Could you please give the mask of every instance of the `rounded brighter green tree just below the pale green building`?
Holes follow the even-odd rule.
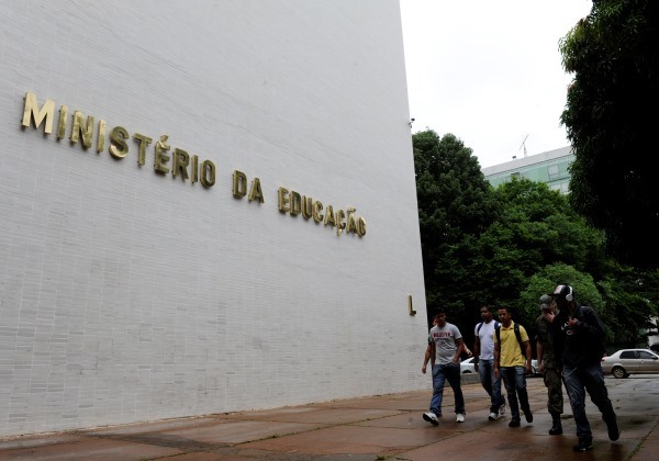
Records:
[[[490,299],[512,305],[528,279],[545,266],[562,262],[579,271],[599,269],[602,233],[589,227],[567,198],[547,184],[514,179],[494,190],[498,220],[479,241],[473,271],[490,281]]]

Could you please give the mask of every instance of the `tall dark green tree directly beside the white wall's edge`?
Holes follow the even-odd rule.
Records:
[[[465,305],[478,296],[465,265],[470,243],[494,221],[498,204],[462,140],[426,130],[412,142],[428,315],[442,305],[459,324]]]

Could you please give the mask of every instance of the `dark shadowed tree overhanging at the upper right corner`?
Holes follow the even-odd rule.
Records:
[[[659,261],[657,43],[659,2],[594,0],[559,46],[574,74],[561,115],[576,156],[570,202],[605,231],[613,255],[646,268]]]

